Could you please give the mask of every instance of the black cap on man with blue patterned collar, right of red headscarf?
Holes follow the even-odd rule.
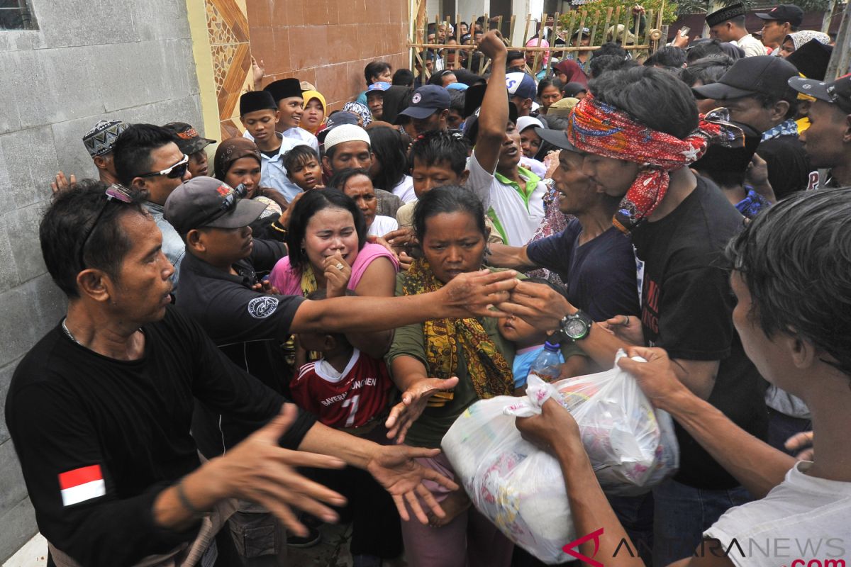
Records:
[[[753,94],[791,94],[789,77],[797,77],[789,61],[771,55],[745,57],[736,61],[718,82],[692,87],[698,99],[739,99]]]

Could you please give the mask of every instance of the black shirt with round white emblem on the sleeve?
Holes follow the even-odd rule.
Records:
[[[251,256],[233,265],[238,275],[215,269],[187,253],[180,264],[175,304],[197,320],[237,366],[285,395],[293,375],[280,345],[288,337],[295,311],[304,298],[251,289],[257,283],[254,270],[268,272],[283,253],[279,242],[254,240]],[[251,420],[223,415],[208,404],[196,403],[192,435],[208,458],[221,455],[256,428]]]

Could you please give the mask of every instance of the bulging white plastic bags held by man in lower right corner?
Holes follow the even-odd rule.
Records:
[[[477,401],[455,420],[441,445],[480,513],[544,563],[563,563],[573,558],[562,547],[576,535],[561,468],[521,437],[515,417],[540,414],[551,397],[567,407],[610,495],[647,492],[676,471],[677,439],[671,417],[654,411],[635,379],[618,366],[553,384],[530,375],[526,393]]]

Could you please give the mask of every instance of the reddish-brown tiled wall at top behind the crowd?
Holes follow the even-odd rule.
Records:
[[[251,54],[266,64],[263,85],[311,82],[337,110],[366,88],[363,67],[408,66],[403,0],[247,0]]]

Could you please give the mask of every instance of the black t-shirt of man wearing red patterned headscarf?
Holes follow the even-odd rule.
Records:
[[[709,402],[740,428],[764,439],[766,383],[745,356],[733,327],[734,298],[723,258],[744,218],[716,186],[697,188],[665,218],[632,232],[644,261],[642,326],[649,346],[672,359],[720,360]],[[674,478],[703,489],[739,483],[677,424],[680,470]]]

